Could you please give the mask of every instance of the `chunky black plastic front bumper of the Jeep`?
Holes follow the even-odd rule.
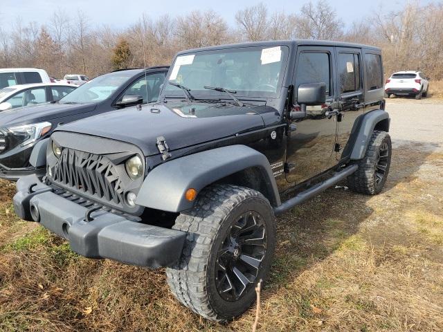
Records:
[[[21,219],[39,221],[84,257],[136,266],[171,266],[181,257],[187,234],[103,210],[91,213],[93,220],[87,221],[88,208],[55,194],[35,175],[17,181],[14,208]]]

